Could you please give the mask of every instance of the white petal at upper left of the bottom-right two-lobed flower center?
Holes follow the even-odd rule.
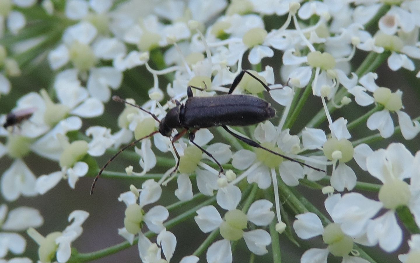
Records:
[[[323,234],[324,227],[316,214],[307,212],[296,215],[296,218],[293,228],[298,237],[308,239]]]

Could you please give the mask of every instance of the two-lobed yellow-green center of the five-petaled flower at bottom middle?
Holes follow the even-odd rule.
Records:
[[[247,215],[241,210],[235,209],[227,211],[225,221],[220,224],[220,235],[230,241],[239,240],[244,235],[248,224]]]

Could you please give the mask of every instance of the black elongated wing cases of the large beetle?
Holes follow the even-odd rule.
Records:
[[[208,128],[231,125],[247,126],[273,118],[276,111],[270,103],[251,95],[192,97],[181,112],[184,127]]]

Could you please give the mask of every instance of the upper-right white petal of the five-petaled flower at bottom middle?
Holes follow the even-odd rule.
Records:
[[[266,226],[273,221],[274,212],[270,209],[273,204],[265,199],[257,200],[249,206],[247,218],[248,221],[257,226]]]

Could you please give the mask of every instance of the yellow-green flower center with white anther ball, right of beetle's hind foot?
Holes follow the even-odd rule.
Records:
[[[339,160],[340,162],[348,162],[352,160],[354,148],[348,139],[328,139],[323,146],[324,155],[329,160]]]

